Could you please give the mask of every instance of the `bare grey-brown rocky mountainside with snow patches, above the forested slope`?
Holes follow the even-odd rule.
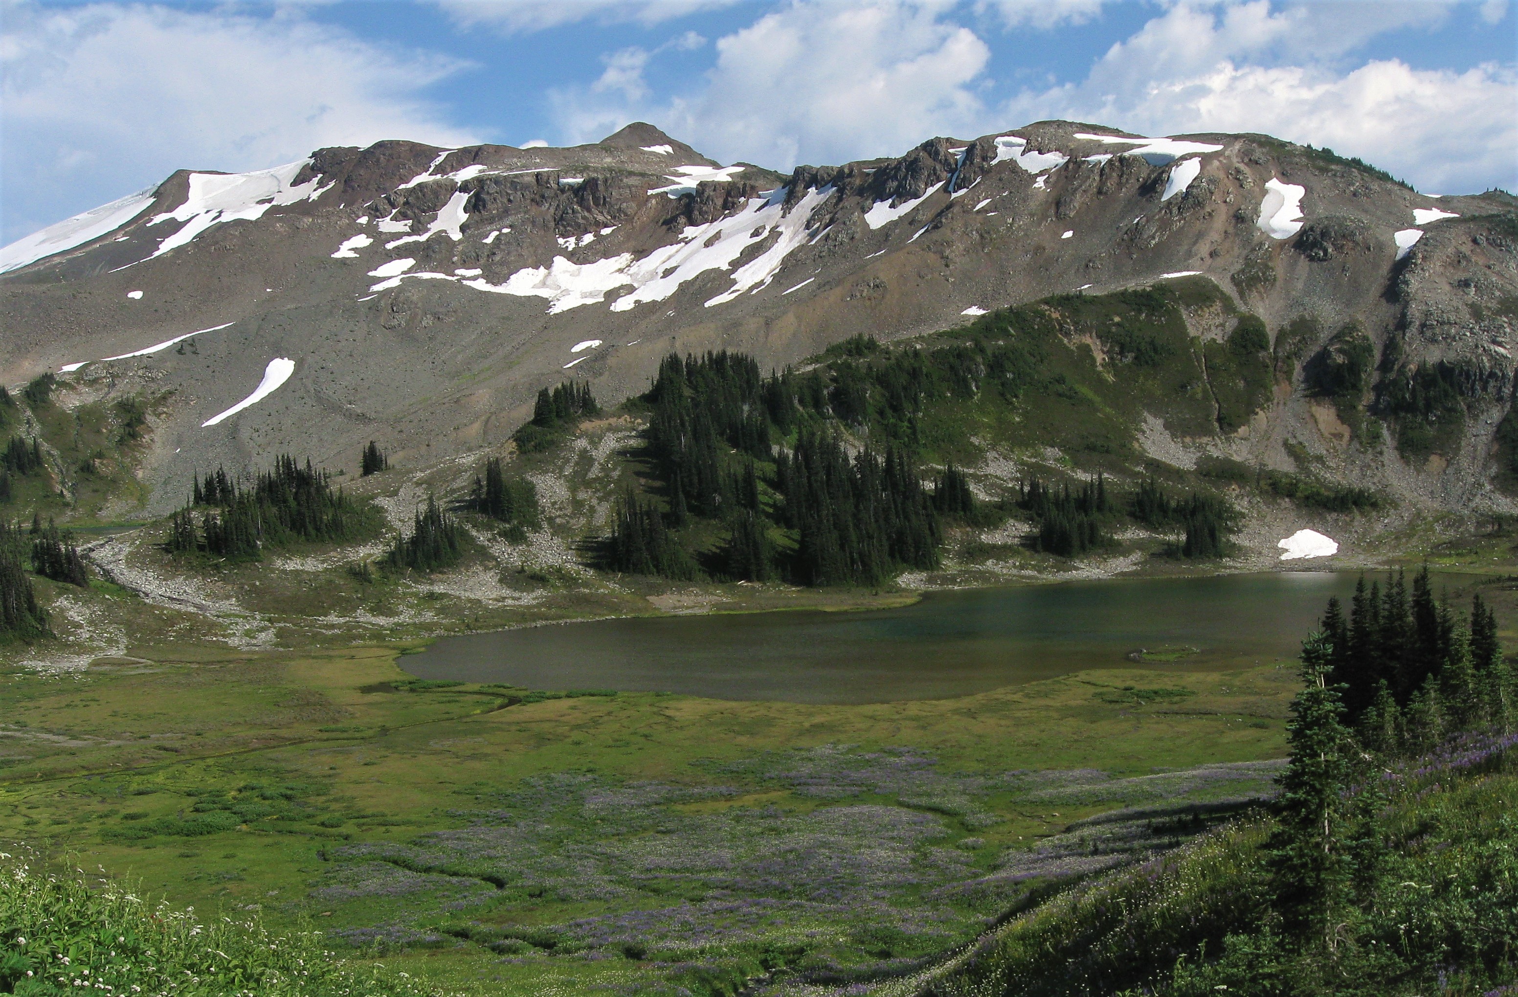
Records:
[[[791,176],[647,124],[574,149],[387,141],[181,171],[0,267],[0,378],[158,399],[143,473],[159,510],[194,469],[279,451],[332,467],[370,439],[411,464],[474,452],[540,387],[575,376],[616,401],[669,351],[783,366],[1190,273],[1264,322],[1278,384],[1237,428],[1135,425],[1151,454],[1312,461],[1459,508],[1509,507],[1515,467],[1518,202],[1436,199],[1260,135],[1044,121]],[[1231,328],[1189,322],[1199,340]]]

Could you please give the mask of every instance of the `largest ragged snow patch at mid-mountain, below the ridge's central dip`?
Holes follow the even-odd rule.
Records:
[[[580,305],[592,305],[606,294],[631,285],[631,291],[612,302],[612,311],[630,311],[642,302],[665,300],[682,284],[707,270],[726,270],[750,246],[774,240],[765,252],[733,273],[733,285],[723,294],[706,302],[706,307],[730,302],[744,291],[770,284],[785,258],[809,235],[806,228],[812,212],[829,197],[832,187],[808,191],[805,197],[785,214],[786,188],[770,191],[767,197],[753,197],[742,211],[732,217],[716,219],[706,225],[686,226],[680,238],[660,246],[642,259],[631,253],[618,253],[594,263],[571,263],[554,256],[546,267],[524,267],[504,284],[487,281],[465,281],[465,287],[495,294],[519,297],[546,297],[548,313],[559,314]]]

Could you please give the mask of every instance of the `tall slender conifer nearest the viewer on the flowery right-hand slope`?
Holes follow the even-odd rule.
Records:
[[[1280,775],[1277,829],[1271,835],[1274,906],[1289,933],[1327,944],[1345,880],[1342,854],[1348,733],[1339,690],[1328,684],[1333,645],[1312,633],[1302,642],[1302,690],[1287,724],[1290,757]]]

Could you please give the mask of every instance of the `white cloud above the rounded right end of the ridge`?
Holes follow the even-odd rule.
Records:
[[[1415,14],[1428,23],[1427,9]],[[1410,17],[1392,11],[1383,26],[1403,26],[1400,15]],[[1315,20],[1324,17],[1333,23]],[[1101,121],[1151,135],[1264,132],[1360,156],[1421,190],[1512,185],[1518,121],[1494,108],[1513,106],[1513,68],[1488,64],[1462,73],[1375,59],[1343,70],[1339,59],[1313,58],[1337,56],[1359,44],[1346,35],[1359,32],[1363,41],[1369,30],[1343,24],[1337,9],[1178,6],[1113,46],[1085,80],[1023,93],[1003,114]],[[1284,65],[1252,59],[1268,49],[1304,58]]]

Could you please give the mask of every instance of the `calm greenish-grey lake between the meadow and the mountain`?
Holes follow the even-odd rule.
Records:
[[[468,634],[404,659],[419,678],[721,700],[888,703],[968,695],[1085,668],[1227,669],[1295,659],[1357,574],[1076,581],[934,592],[858,613],[607,619]],[[1471,578],[1448,578],[1451,595]],[[1175,665],[1138,648],[1190,645]]]

